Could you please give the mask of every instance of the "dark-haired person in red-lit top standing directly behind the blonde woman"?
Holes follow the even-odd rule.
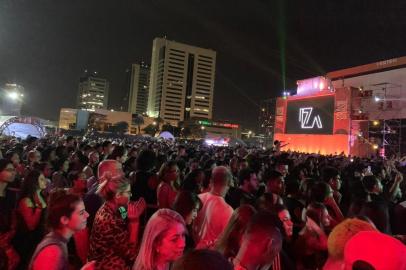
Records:
[[[176,161],[168,161],[162,165],[158,174],[161,182],[157,189],[158,207],[171,208],[178,194],[179,169]]]

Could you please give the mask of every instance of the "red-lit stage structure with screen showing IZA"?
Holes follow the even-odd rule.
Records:
[[[298,81],[297,95],[276,101],[274,139],[283,150],[323,155],[370,156],[368,119],[360,112],[358,88],[333,89],[324,77]]]

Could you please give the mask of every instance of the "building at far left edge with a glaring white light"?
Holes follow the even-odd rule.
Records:
[[[24,87],[6,83],[0,88],[0,115],[19,116],[24,98]]]

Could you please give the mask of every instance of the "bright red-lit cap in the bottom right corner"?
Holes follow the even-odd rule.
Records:
[[[367,262],[375,270],[406,270],[406,246],[399,240],[377,231],[362,231],[345,246],[346,269],[356,261]]]

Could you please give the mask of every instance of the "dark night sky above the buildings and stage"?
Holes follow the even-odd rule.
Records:
[[[118,109],[126,70],[162,36],[217,51],[214,118],[253,128],[259,102],[298,79],[405,56],[406,1],[0,0],[0,83],[57,120],[88,69]]]

